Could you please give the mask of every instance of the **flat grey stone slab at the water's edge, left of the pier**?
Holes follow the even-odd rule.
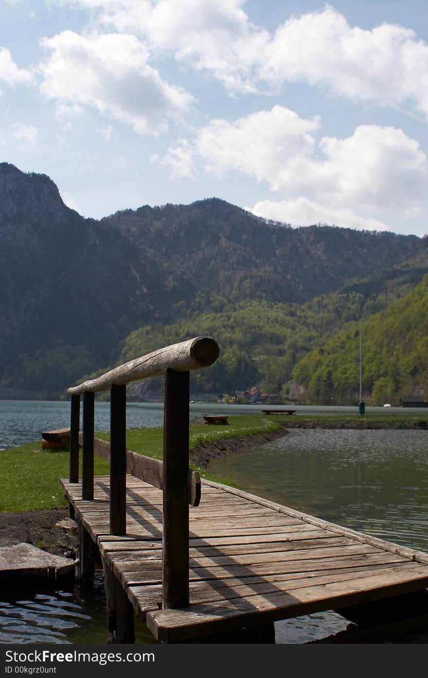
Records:
[[[32,584],[72,580],[74,561],[47,553],[33,544],[14,544],[0,548],[0,583]]]

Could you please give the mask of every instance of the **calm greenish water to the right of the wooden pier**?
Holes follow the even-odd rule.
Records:
[[[428,552],[428,431],[291,429],[209,470],[279,504]],[[305,643],[347,622],[323,612],[275,626],[277,643]]]

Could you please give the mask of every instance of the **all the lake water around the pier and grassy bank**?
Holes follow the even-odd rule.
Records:
[[[260,409],[257,405],[198,403],[190,407],[192,414],[246,414]],[[356,408],[296,410],[297,416],[308,412],[330,415],[355,412]],[[397,411],[391,408],[388,414],[393,416]],[[0,401],[0,449],[40,439],[45,428],[68,426],[69,412],[66,402]],[[109,416],[109,404],[96,403],[95,428],[108,428]],[[162,422],[160,403],[129,403],[129,427],[159,426]],[[427,431],[292,429],[283,438],[255,450],[213,460],[209,469],[253,494],[428,551],[427,452]],[[333,612],[278,622],[276,641],[305,643],[341,631],[347,623]],[[142,624],[137,624],[136,631],[138,643],[152,641]],[[105,641],[101,574],[91,595],[62,591],[0,603],[0,643]]]

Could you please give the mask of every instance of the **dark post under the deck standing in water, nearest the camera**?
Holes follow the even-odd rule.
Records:
[[[103,561],[108,643],[135,643],[134,611],[131,601],[110,567]]]

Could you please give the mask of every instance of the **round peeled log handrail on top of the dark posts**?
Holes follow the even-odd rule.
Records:
[[[67,392],[71,395],[81,395],[85,391],[91,393],[107,391],[112,384],[120,386],[138,379],[163,374],[167,368],[175,370],[175,372],[198,370],[200,367],[212,365],[217,360],[219,351],[219,345],[211,337],[195,337],[179,344],[159,348],[158,351],[153,351],[148,355],[135,358],[129,363],[114,367],[114,370],[110,370],[110,372],[106,372],[96,379],[68,388]]]

